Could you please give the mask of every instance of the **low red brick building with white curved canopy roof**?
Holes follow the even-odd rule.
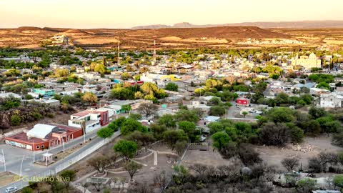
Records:
[[[37,151],[57,147],[62,145],[63,142],[69,142],[71,139],[81,137],[82,134],[81,128],[55,124],[36,124],[27,133],[22,132],[11,137],[5,137],[5,143]]]

